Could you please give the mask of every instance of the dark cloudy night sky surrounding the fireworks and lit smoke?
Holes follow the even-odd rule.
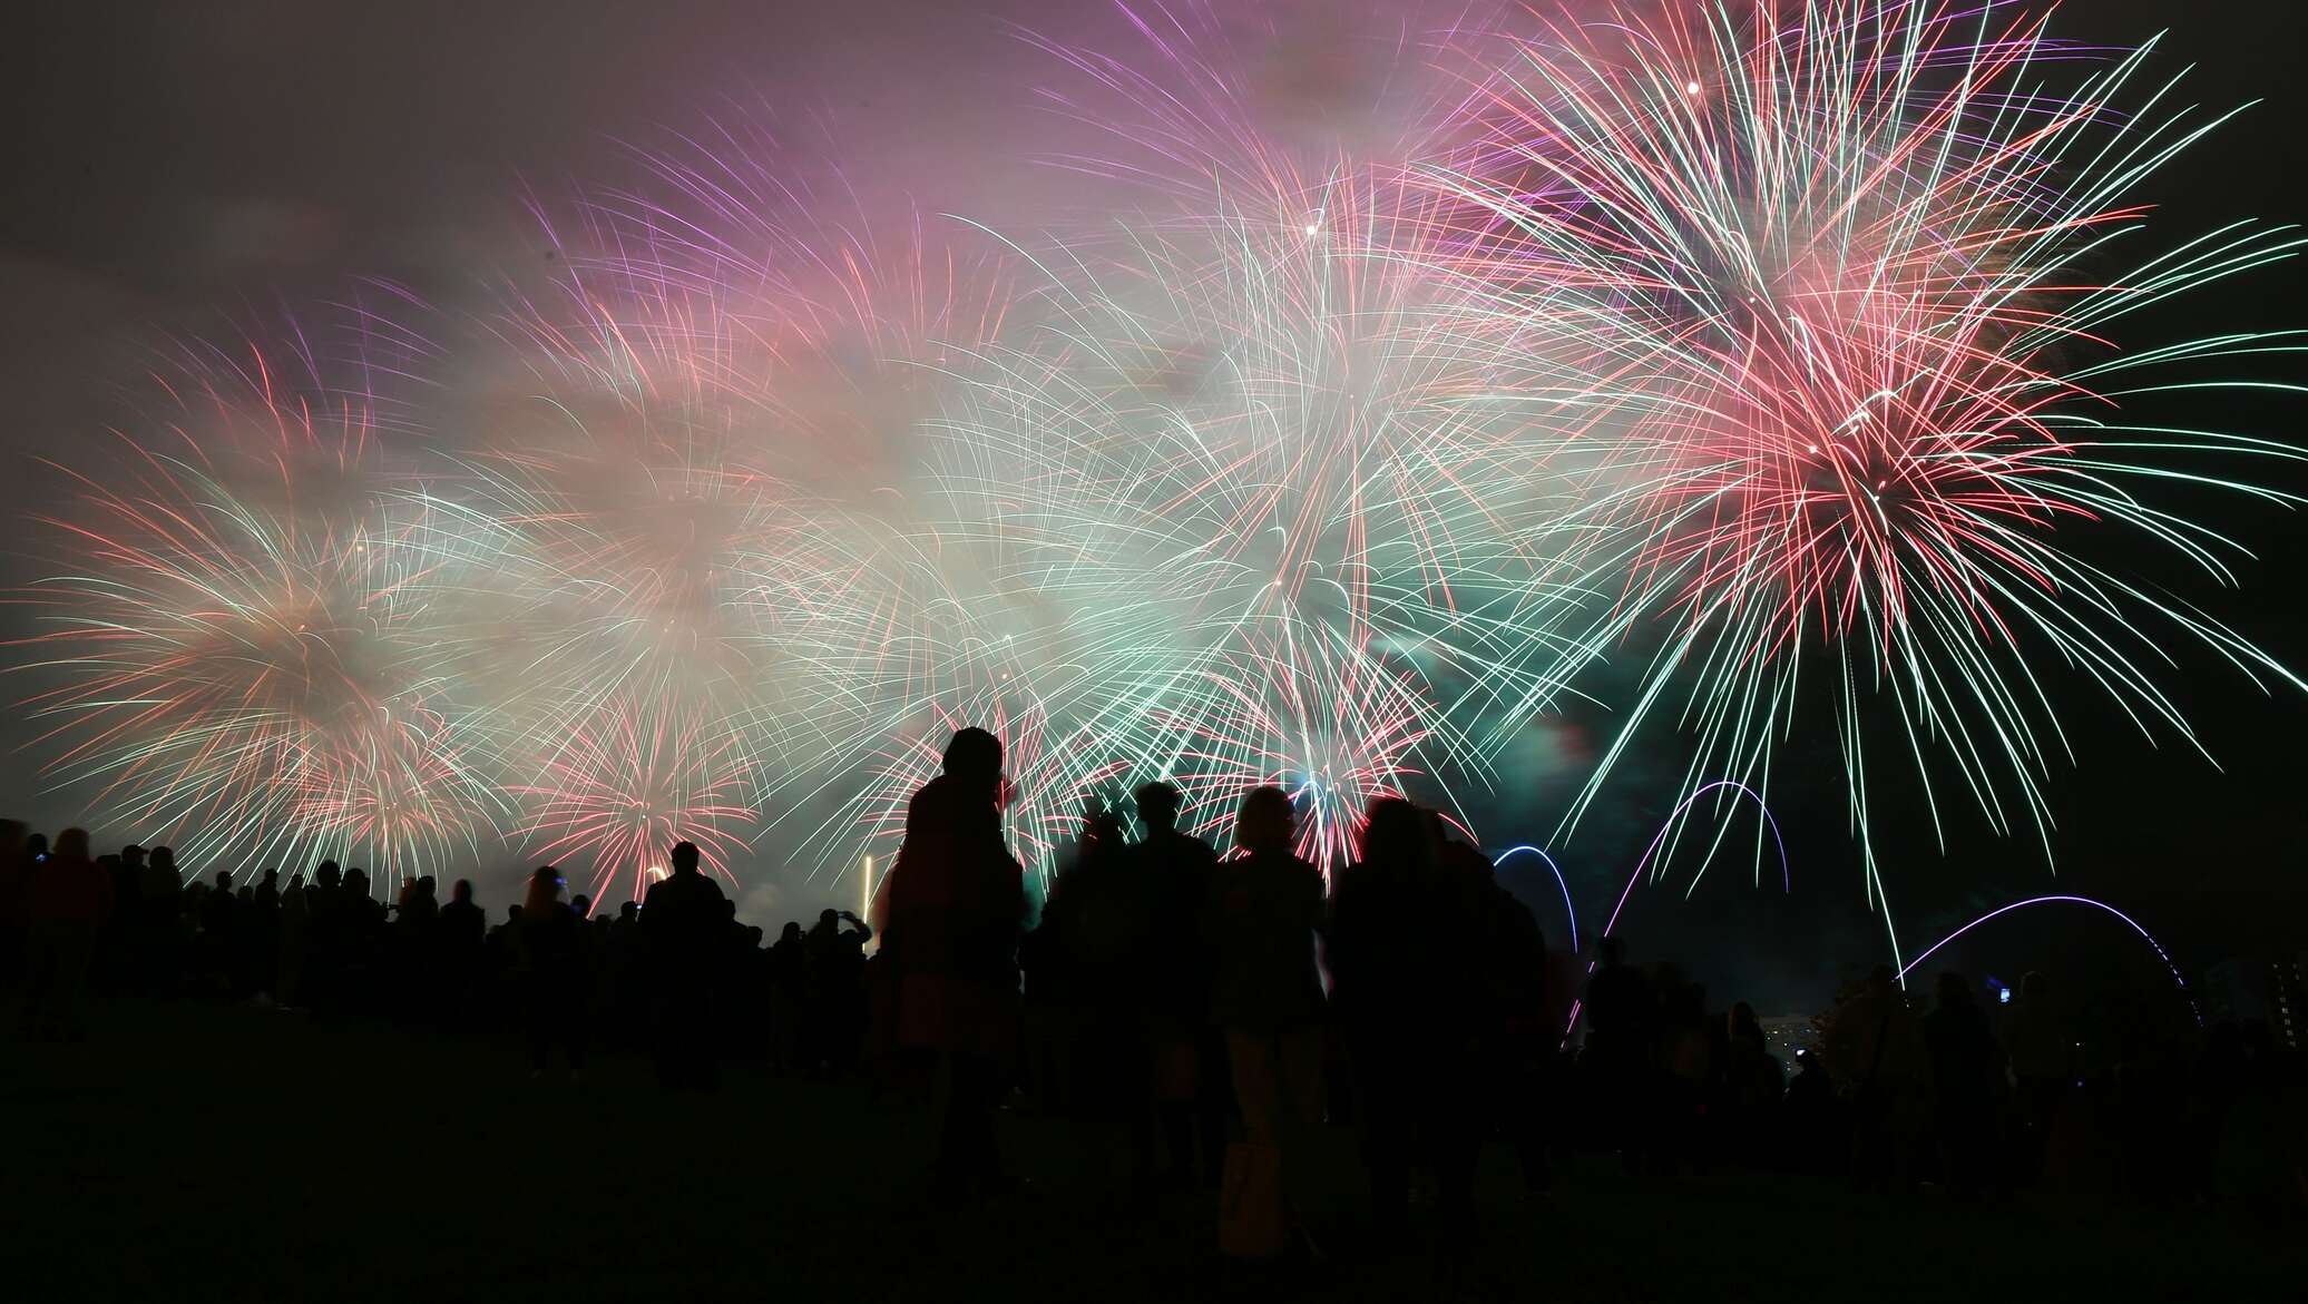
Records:
[[[32,457],[90,439],[106,395],[134,381],[136,351],[157,335],[198,335],[238,314],[328,298],[362,275],[455,309],[492,268],[540,254],[517,205],[524,187],[552,192],[598,173],[621,138],[688,122],[722,97],[831,125],[845,150],[896,162],[879,171],[912,178],[932,210],[1004,222],[1064,201],[1076,182],[1027,159],[1036,132],[1048,132],[1032,108],[1039,55],[1009,23],[1066,39],[1115,23],[1087,0],[83,0],[42,5],[28,21],[30,30],[18,18],[0,53],[9,122],[0,143],[9,187],[0,205],[0,448],[9,457],[0,510],[9,519],[55,494]],[[2174,32],[2153,67],[2197,65],[2188,99],[2264,99],[2158,178],[2151,198],[2176,210],[2163,228],[2308,219],[2308,83],[2294,67],[2308,48],[2308,14],[2290,2],[2080,0],[2054,32],[2133,42],[2163,25]],[[2188,312],[2234,328],[2303,325],[2303,288],[2294,261],[2195,295]],[[2202,420],[2299,441],[2303,413],[2296,399],[2269,399]],[[2308,492],[2308,469],[2266,475]],[[2241,568],[2239,593],[2190,593],[2278,658],[2308,665],[2308,524],[2239,499],[2206,501],[2202,512],[2260,561]],[[32,577],[16,552],[0,565],[12,586]],[[18,632],[7,612],[0,632]],[[2308,949],[2299,877],[2308,699],[2292,690],[2262,699],[2202,649],[2176,655],[2167,685],[2223,769],[2170,736],[2151,748],[2105,702],[2068,692],[2080,764],[2054,782],[2059,877],[2031,842],[1996,840],[1969,812],[1950,819],[1946,854],[1920,819],[1886,819],[1886,877],[1909,942],[2017,895],[2082,891],[2137,914],[2183,965]],[[23,741],[21,725],[0,727],[9,815],[39,826],[72,819],[69,801],[39,792]],[[1833,748],[1819,757],[1833,764]],[[1842,782],[1789,787],[1779,817],[1796,893],[1756,891],[1743,868],[1710,877],[1692,902],[1659,891],[1639,900],[1625,928],[1639,958],[1683,953],[1726,995],[1738,988],[1766,1006],[1798,1006],[1876,955],[1842,831]],[[1664,794],[1632,792],[1604,810],[1586,861],[1572,865],[1588,902],[1616,893],[1662,808]],[[1516,824],[1509,803],[1484,833],[1500,845],[1544,835],[1553,812]],[[799,886],[787,900],[817,905]],[[1542,921],[1556,928],[1544,909]],[[2070,930],[2128,944],[2086,921],[2038,928],[2045,946]],[[1983,942],[1971,962],[2026,962],[2017,942]]]

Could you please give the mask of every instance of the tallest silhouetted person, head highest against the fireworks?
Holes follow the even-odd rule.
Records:
[[[882,882],[889,1041],[928,1059],[939,1198],[997,1177],[995,1103],[1018,1036],[1025,872],[1002,840],[1002,741],[960,729],[944,773],[907,803],[905,842]]]

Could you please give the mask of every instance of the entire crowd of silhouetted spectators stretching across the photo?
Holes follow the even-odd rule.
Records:
[[[7,822],[0,976],[30,1039],[78,1036],[99,990],[501,1034],[540,1076],[607,1043],[653,1055],[669,1089],[713,1089],[729,1062],[856,1078],[935,1110],[946,1198],[1009,1182],[999,1110],[1059,1115],[1115,1184],[1216,1189],[1246,1256],[1311,1251],[1295,1209],[1327,1126],[1355,1129],[1380,1228],[1429,1196],[1466,1230],[1486,1145],[1530,1193],[1560,1156],[1604,1152],[1646,1177],[2308,1202],[2301,1078],[2264,1025],[2142,1011],[2086,1046],[2047,976],[1987,1004],[1939,974],[1923,1002],[1879,969],[1782,1057],[1745,1002],[1710,1006],[1618,937],[1549,949],[1491,863],[1408,801],[1376,801],[1325,884],[1283,789],[1242,794],[1221,854],[1179,831],[1175,787],[1145,785],[1140,835],[1087,810],[1034,912],[1004,782],[1002,743],[958,732],[872,925],[826,909],[775,939],[688,842],[639,902],[572,898],[547,865],[492,921],[464,879],[448,900],[409,879],[388,905],[360,868],[235,882]]]

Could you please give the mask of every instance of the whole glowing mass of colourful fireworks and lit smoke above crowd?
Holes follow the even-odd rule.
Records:
[[[2296,240],[2135,252],[2218,122],[2149,51],[1994,2],[1126,14],[1027,37],[1082,178],[1046,224],[722,104],[531,198],[547,270],[487,307],[388,295],[432,342],[355,314],[390,365],[168,369],[55,512],[58,780],[194,856],[505,835],[598,895],[681,838],[886,863],[986,725],[1034,868],[1166,778],[1205,833],[1286,787],[1332,870],[1567,695],[1618,739],[1549,847],[1636,745],[1761,803],[1821,699],[1863,847],[1895,752],[2050,849],[2050,667],[2179,736],[2172,632],[2299,683],[2098,542],[2232,582],[2163,492],[2296,459],[2158,415],[2294,342],[2146,309]]]

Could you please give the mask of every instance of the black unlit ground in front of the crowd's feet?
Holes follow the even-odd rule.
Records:
[[[503,1043],[115,1004],[83,1046],[0,1041],[0,1299],[2308,1299],[2299,1228],[2211,1209],[1959,1207],[1789,1177],[1523,1200],[1486,1154],[1470,1249],[1373,1244],[1346,1136],[1329,1260],[1242,1269],[1198,1193],[1133,1205],[1064,1124],[1004,1119],[1029,1182],[916,1198],[900,1101],[644,1064],[529,1080]]]

